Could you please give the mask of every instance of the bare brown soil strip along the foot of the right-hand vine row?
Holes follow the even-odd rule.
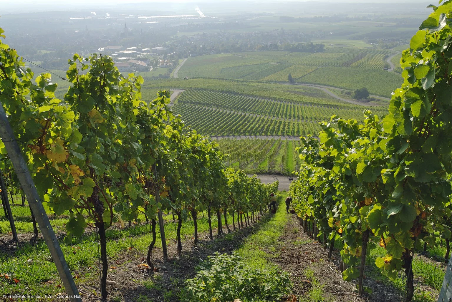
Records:
[[[364,279],[364,285],[372,288],[371,297],[358,297],[357,282],[342,279],[339,270],[340,254],[336,251],[333,259],[328,259],[328,250],[322,243],[314,241],[307,234],[294,214],[289,215],[284,233],[278,239],[280,250],[275,254],[275,262],[291,274],[294,284],[293,294],[297,301],[309,300],[308,292],[312,287],[306,280],[306,269],[314,270],[314,277],[323,285],[325,301],[403,301],[403,293],[395,288],[381,284],[370,278]]]

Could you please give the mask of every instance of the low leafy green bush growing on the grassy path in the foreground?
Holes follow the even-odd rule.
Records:
[[[185,281],[183,301],[278,301],[289,293],[291,281],[278,268],[257,270],[247,267],[238,255],[216,253],[200,266],[198,274]]]

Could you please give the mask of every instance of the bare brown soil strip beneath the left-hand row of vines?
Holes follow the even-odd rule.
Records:
[[[119,296],[122,297],[122,302],[136,302],[140,296],[144,300],[139,301],[179,301],[177,293],[184,287],[185,279],[193,278],[196,274],[195,267],[201,261],[215,252],[231,254],[240,247],[245,238],[256,233],[271,217],[273,217],[273,214],[267,214],[260,221],[251,224],[250,227],[240,230],[237,228],[237,222],[235,222],[236,231],[232,231],[230,235],[227,235],[226,226],[223,226],[225,234],[222,235],[216,235],[217,229],[212,229],[214,240],[208,238],[208,233],[199,233],[196,246],[193,244],[193,237],[185,236],[185,238],[182,238],[183,248],[180,257],[177,255],[177,244],[173,239],[168,244],[168,261],[163,261],[163,253],[160,248],[154,249],[153,263],[155,270],[157,270],[154,274],[151,274],[145,267],[137,266],[146,262],[146,255],[136,249],[110,256],[108,266],[115,266],[116,269],[108,272],[107,291],[109,298]],[[228,221],[228,224],[232,230],[232,221]],[[97,267],[92,269],[96,272],[99,270]],[[84,272],[77,273],[83,275]],[[151,287],[142,284],[142,281],[147,280],[152,284]],[[99,279],[94,279],[89,284],[80,285],[79,289],[84,302],[99,301],[99,297],[93,295],[94,291],[99,293]],[[170,291],[173,294],[164,300],[164,293],[168,294]]]

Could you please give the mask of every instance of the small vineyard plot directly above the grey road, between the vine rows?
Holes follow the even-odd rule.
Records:
[[[292,174],[300,168],[296,147],[299,141],[275,139],[218,139],[220,151],[228,154],[225,163],[249,174],[280,173]]]

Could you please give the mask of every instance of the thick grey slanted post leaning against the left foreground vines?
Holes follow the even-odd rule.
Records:
[[[9,125],[5,110],[3,109],[3,105],[1,103],[0,138],[5,144],[6,151],[8,151],[9,159],[13,163],[19,182],[24,189],[28,204],[33,210],[33,213],[36,215],[36,221],[38,222],[39,229],[41,229],[42,237],[49,248],[53,262],[55,263],[56,269],[61,277],[61,281],[66,288],[66,293],[71,296],[71,301],[81,302],[81,296],[79,295],[79,291],[75,286],[69,266],[66,263],[63,252],[61,251],[60,243],[58,243],[58,239],[53,232],[47,213],[42,206],[41,198],[36,190],[31,174],[28,171],[27,163],[20,152],[19,145],[14,137],[13,129]]]

